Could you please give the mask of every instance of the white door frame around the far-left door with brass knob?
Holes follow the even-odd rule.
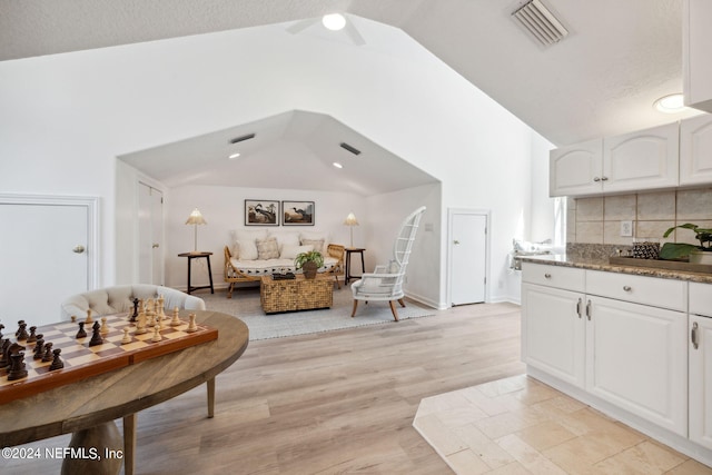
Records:
[[[2,205],[83,206],[87,208],[87,289],[99,287],[99,197],[0,194]]]

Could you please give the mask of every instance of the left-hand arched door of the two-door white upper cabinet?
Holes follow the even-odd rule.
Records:
[[[602,171],[601,139],[554,149],[548,154],[548,196],[600,194]]]

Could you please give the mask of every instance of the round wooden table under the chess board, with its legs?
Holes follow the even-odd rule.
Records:
[[[123,443],[119,436],[118,448],[123,449],[125,473],[132,474],[136,414],[207,383],[208,417],[212,417],[215,377],[247,348],[249,333],[238,318],[206,310],[181,310],[180,317],[189,313],[197,315],[198,324],[218,329],[217,339],[1,404],[0,446],[73,433],[71,446],[117,447],[113,420],[123,418]],[[116,462],[65,458],[62,471],[99,473],[91,464]],[[120,459],[115,472],[119,469]]]

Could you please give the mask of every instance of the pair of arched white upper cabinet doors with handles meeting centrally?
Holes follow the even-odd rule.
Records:
[[[678,123],[606,137],[550,152],[550,196],[678,186]]]

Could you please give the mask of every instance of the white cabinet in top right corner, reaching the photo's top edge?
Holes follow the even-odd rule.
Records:
[[[712,2],[685,0],[682,13],[682,67],[685,106],[712,112]]]

